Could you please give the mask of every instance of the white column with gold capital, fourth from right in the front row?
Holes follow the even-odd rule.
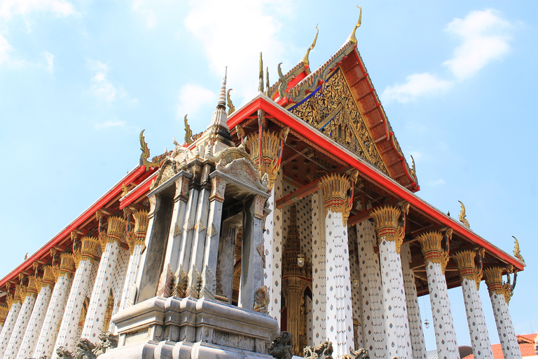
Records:
[[[400,248],[405,236],[405,215],[409,204],[400,209],[386,205],[372,212],[378,237],[383,312],[387,334],[387,357],[411,358],[407,304],[403,287]]]

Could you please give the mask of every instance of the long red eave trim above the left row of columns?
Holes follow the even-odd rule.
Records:
[[[153,172],[153,171],[152,171]],[[151,172],[150,172],[151,173]],[[85,210],[81,215],[79,215],[71,224],[69,224],[67,227],[65,227],[60,233],[58,233],[56,236],[54,236],[46,245],[43,245],[37,252],[34,253],[31,257],[25,260],[25,262],[22,262],[18,267],[13,269],[10,273],[8,273],[7,276],[2,278],[0,280],[0,287],[4,287],[6,285],[6,282],[8,280],[13,280],[13,278],[16,278],[18,276],[18,273],[23,271],[24,269],[27,269],[32,266],[32,263],[34,263],[36,260],[40,259],[44,255],[48,255],[48,252],[50,251],[50,248],[53,248],[55,245],[60,243],[65,237],[70,236],[71,231],[74,231],[78,226],[83,224],[88,218],[90,218],[92,215],[95,215],[95,212],[99,210],[99,208],[102,208],[106,203],[109,203],[115,196],[118,196],[118,194],[122,191],[122,184],[130,184],[136,179],[139,179],[139,177],[143,177],[146,174],[144,166],[138,166],[134,170],[132,170],[130,173],[128,173],[123,179],[121,179],[120,182],[118,182],[114,187],[112,187],[104,196],[99,198],[97,202],[95,202],[90,208]]]

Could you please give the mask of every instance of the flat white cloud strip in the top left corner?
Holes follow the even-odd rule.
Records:
[[[0,17],[6,20],[13,15],[27,15],[32,12],[47,11],[56,16],[75,15],[77,12],[66,0],[3,0],[0,4]]]

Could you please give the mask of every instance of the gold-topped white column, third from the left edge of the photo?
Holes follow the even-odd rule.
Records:
[[[15,327],[13,327],[13,333],[4,353],[4,359],[15,359],[22,342],[22,337],[25,336],[28,320],[32,316],[32,309],[34,309],[34,304],[36,303],[37,290],[35,276],[28,277],[28,286],[25,292],[25,301],[22,302],[22,306],[20,307],[17,322],[15,323]]]

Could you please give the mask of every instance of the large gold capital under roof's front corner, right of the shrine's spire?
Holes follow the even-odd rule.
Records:
[[[244,134],[244,130],[240,126],[236,126],[236,128],[238,134]],[[289,127],[282,128],[280,133],[275,133],[271,130],[261,130],[258,136],[252,134],[245,141],[245,146],[249,150],[252,161],[254,161],[254,164],[258,168],[260,178],[265,173],[268,175],[269,190],[273,189],[277,173],[280,170],[284,142],[286,142],[288,133]]]

